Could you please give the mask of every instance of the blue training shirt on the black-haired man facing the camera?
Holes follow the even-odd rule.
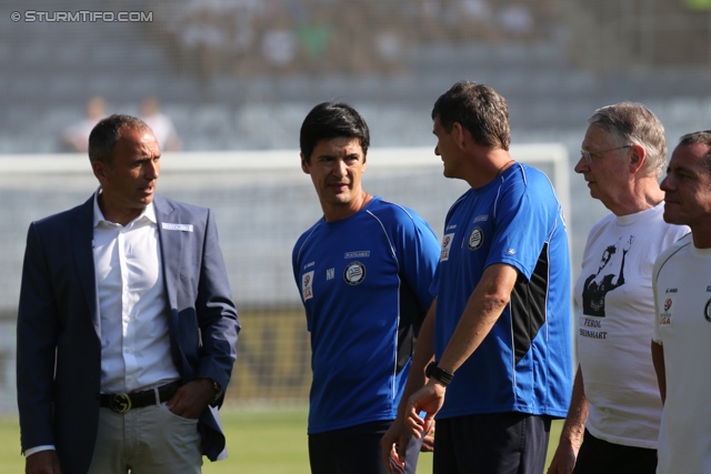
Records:
[[[422,218],[379,196],[299,238],[292,266],[311,333],[309,434],[395,418],[439,253]]]

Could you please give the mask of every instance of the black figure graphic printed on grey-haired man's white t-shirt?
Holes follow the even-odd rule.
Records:
[[[634,235],[630,235],[624,242],[620,238],[602,252],[598,272],[588,276],[582,289],[583,314],[604,317],[605,295],[624,284],[624,258],[633,242]]]

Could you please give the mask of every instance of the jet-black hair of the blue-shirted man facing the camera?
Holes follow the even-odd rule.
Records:
[[[360,140],[363,155],[370,147],[370,131],[360,113],[343,102],[322,102],[303,119],[299,133],[299,145],[307,163],[311,162],[313,149],[322,140],[348,137]]]

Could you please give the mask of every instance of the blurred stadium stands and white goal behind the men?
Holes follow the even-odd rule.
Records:
[[[216,210],[244,326],[230,401],[301,403],[309,343],[290,252],[320,216],[298,167],[301,120],[324,100],[358,108],[373,147],[365,188],[411,205],[441,235],[463,188],[441,177],[430,110],[461,79],[508,99],[514,158],[551,155],[541,168],[569,195],[577,278],[588,230],[604,213],[572,171],[585,119],[643,102],[670,148],[711,128],[711,1],[0,3],[0,412],[16,410],[27,225],[96,188],[70,140],[88,103],[141,114],[146,98],[159,101],[180,139],[166,145],[160,192]],[[415,159],[423,150],[431,164]],[[555,157],[568,158],[562,171]]]

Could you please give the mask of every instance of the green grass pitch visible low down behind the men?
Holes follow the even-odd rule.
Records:
[[[230,456],[218,463],[206,461],[204,474],[309,474],[306,409],[226,409],[222,424]],[[553,423],[549,460],[561,425],[562,422]],[[431,465],[432,455],[422,454],[418,474],[431,474]],[[0,417],[0,473],[23,472],[17,416]]]

